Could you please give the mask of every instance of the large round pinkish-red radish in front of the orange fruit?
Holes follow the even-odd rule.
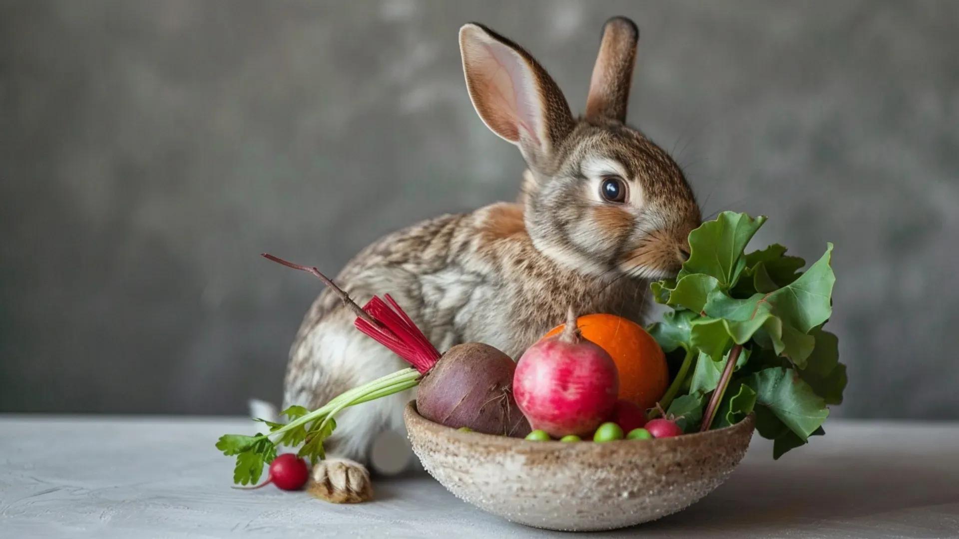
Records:
[[[516,365],[513,393],[533,429],[586,435],[616,407],[620,377],[605,350],[585,340],[571,308],[563,333],[533,344]]]

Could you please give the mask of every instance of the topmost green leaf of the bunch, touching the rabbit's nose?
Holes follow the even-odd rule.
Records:
[[[714,277],[719,286],[731,288],[746,266],[743,249],[760,229],[765,217],[753,219],[744,213],[722,212],[714,221],[702,223],[690,232],[690,259],[677,277],[692,273]]]

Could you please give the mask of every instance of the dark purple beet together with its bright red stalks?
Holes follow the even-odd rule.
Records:
[[[357,329],[419,371],[416,410],[420,415],[447,427],[468,427],[478,433],[529,434],[529,423],[513,397],[516,363],[509,356],[480,342],[457,344],[440,355],[389,294],[384,295],[386,301],[373,296],[360,308],[318,269],[292,264],[269,254],[263,256],[316,275],[357,315],[354,321]],[[379,396],[386,394],[378,393]]]

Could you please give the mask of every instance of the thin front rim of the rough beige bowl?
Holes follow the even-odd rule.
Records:
[[[690,434],[681,434],[678,436],[670,436],[667,438],[651,438],[648,440],[629,440],[622,438],[619,440],[610,440],[607,442],[593,442],[591,439],[583,439],[584,442],[593,442],[591,444],[581,444],[581,443],[570,443],[570,442],[561,442],[559,440],[550,439],[550,440],[527,440],[525,438],[518,438],[513,436],[504,436],[500,434],[485,434],[477,432],[463,432],[453,427],[447,427],[440,423],[436,423],[423,417],[419,414],[419,411],[416,410],[416,400],[410,400],[407,403],[406,409],[403,413],[404,419],[407,423],[413,423],[417,427],[422,427],[433,434],[439,434],[447,436],[449,438],[461,441],[464,443],[485,443],[492,444],[496,446],[501,446],[503,448],[524,448],[524,449],[550,449],[555,450],[560,447],[567,448],[569,450],[580,449],[583,447],[606,447],[614,448],[621,446],[625,443],[633,443],[636,441],[643,441],[643,447],[647,448],[667,448],[669,445],[673,444],[682,444],[682,443],[695,443],[697,440],[704,440],[706,438],[724,436],[724,435],[733,435],[739,434],[740,431],[748,430],[753,431],[756,427],[756,413],[751,412],[746,417],[739,420],[739,422],[730,425],[728,427],[722,427],[720,429],[710,429],[706,432],[699,433],[690,433]],[[409,426],[407,427],[409,431]]]

